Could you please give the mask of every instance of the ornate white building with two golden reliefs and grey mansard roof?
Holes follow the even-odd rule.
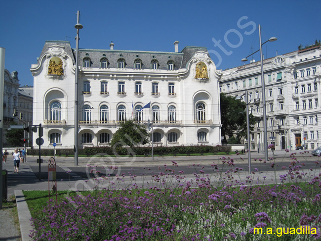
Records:
[[[174,45],[174,52],[115,50],[113,43],[80,49],[80,147],[106,145],[129,118],[153,120],[157,145],[221,144],[221,73],[206,48],[178,52]],[[75,56],[69,42],[46,41],[32,65],[33,123],[42,124],[43,147],[74,146]]]

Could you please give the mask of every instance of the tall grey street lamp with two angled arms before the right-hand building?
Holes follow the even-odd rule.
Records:
[[[269,160],[268,157],[268,131],[267,131],[267,123],[266,123],[266,103],[265,103],[265,82],[264,82],[264,73],[263,73],[263,54],[262,54],[262,45],[264,45],[267,42],[274,42],[278,40],[276,37],[272,37],[269,40],[265,41],[262,44],[261,40],[261,26],[259,24],[259,37],[260,37],[260,49],[255,51],[254,53],[260,51],[261,53],[261,82],[262,82],[262,104],[263,104],[263,129],[264,129],[264,157],[265,160]],[[254,53],[248,55],[246,58],[241,59],[242,62],[247,61],[247,58]]]

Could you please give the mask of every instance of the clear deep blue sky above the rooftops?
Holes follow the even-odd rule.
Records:
[[[258,24],[266,57],[297,50],[321,39],[321,1],[298,0],[6,0],[1,3],[0,47],[5,69],[18,71],[21,86],[33,85],[30,68],[47,40],[67,40],[76,48],[76,13],[80,10],[79,48],[179,51],[206,47],[218,69],[242,65],[259,49]],[[214,43],[216,42],[216,44]],[[253,58],[260,59],[259,53]]]

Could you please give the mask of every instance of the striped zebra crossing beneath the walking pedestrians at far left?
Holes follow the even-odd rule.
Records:
[[[37,179],[35,173],[31,169],[30,165],[26,162],[21,163],[19,167],[19,172],[14,172],[13,161],[6,161],[5,164],[2,164],[2,169],[8,171],[8,181],[9,180],[35,180]]]

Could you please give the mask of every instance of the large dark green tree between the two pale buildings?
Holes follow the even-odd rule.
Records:
[[[227,143],[226,137],[232,138],[236,133],[236,140],[240,143],[242,137],[247,135],[246,126],[246,104],[232,96],[220,94],[221,102],[221,124],[223,143]],[[250,126],[255,124],[255,117],[252,113],[249,115]],[[250,128],[253,130],[253,128]],[[233,140],[233,139],[232,139]],[[231,140],[231,141],[232,141]]]

